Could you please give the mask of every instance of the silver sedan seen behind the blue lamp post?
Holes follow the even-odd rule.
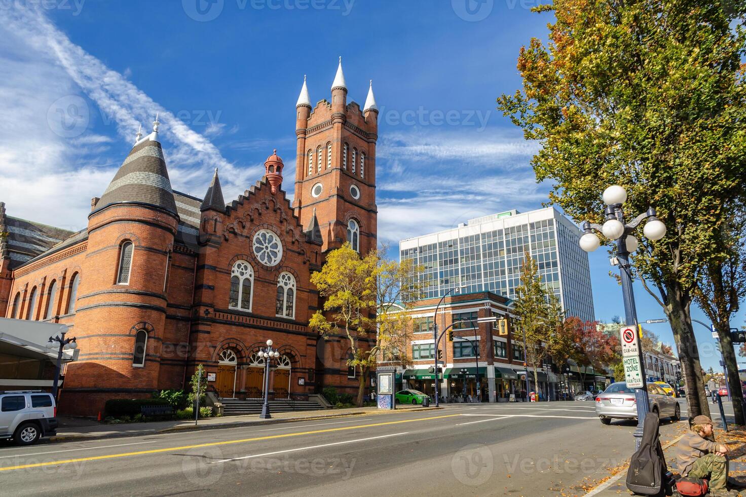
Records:
[[[658,419],[678,421],[681,418],[679,402],[668,396],[658,384],[648,383],[648,398],[651,412],[656,413]],[[635,391],[628,388],[625,381],[610,384],[596,397],[596,415],[604,425],[609,425],[612,419],[637,419]]]

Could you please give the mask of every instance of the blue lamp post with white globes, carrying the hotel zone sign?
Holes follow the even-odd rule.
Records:
[[[619,277],[621,279],[621,294],[624,300],[624,319],[627,326],[634,326],[639,330],[637,324],[637,310],[635,308],[635,295],[632,288],[632,275],[630,273],[629,256],[636,251],[639,242],[633,236],[633,231],[645,222],[642,228],[645,237],[649,240],[660,240],[665,237],[665,225],[656,217],[656,211],[650,207],[647,212],[640,214],[632,222],[624,222],[624,211],[622,204],[627,200],[627,192],[618,185],[612,185],[604,190],[604,216],[606,221],[604,225],[593,224],[588,221],[583,222],[583,236],[580,237],[580,248],[586,252],[592,252],[601,245],[593,231],[604,234],[609,240],[616,240],[616,257],[615,261],[619,266]],[[635,446],[639,448],[642,440],[642,432],[645,427],[645,415],[650,411],[648,403],[648,384],[645,373],[645,363],[642,357],[642,346],[638,348],[638,359],[640,363],[640,374],[642,376],[642,387],[635,389],[635,401],[637,404],[637,428],[634,433]]]

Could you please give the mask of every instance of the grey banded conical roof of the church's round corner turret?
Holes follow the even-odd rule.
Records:
[[[95,210],[112,204],[140,203],[177,214],[163,149],[156,140],[154,131],[132,147]]]

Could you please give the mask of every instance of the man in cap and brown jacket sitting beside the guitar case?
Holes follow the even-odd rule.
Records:
[[[696,416],[692,429],[677,443],[676,462],[682,476],[709,478],[709,495],[739,496],[736,490],[728,490],[727,446],[715,443],[712,437],[712,419]]]

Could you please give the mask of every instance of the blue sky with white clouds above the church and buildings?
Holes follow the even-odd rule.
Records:
[[[220,168],[226,200],[278,149],[295,175],[295,100],[307,75],[329,99],[337,58],[348,101],[369,80],[380,107],[379,239],[450,228],[547,200],[536,144],[495,110],[521,81],[522,45],[546,38],[536,0],[30,0],[0,8],[0,200],[7,213],[78,230],[160,112],[176,190],[202,196]],[[599,195],[601,191],[599,191]],[[604,251],[591,254],[596,316],[623,315]],[[639,285],[639,318],[663,316]],[[695,317],[706,318],[695,310]],[[737,319],[742,325],[742,315]],[[667,324],[650,325],[673,343]],[[705,366],[718,366],[695,325]],[[709,343],[710,346],[703,346]]]

